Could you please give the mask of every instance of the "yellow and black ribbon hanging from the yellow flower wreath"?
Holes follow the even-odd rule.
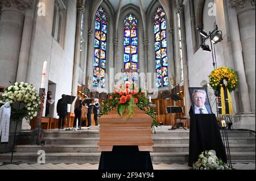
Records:
[[[221,85],[220,87],[220,98],[219,98],[219,107],[218,113],[220,115],[232,115],[233,114],[233,107],[232,107],[232,98],[229,92],[229,89],[226,85]]]

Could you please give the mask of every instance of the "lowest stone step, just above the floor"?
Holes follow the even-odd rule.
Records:
[[[99,162],[101,153],[47,153],[46,162]],[[150,153],[152,162],[188,162],[188,152]],[[13,162],[38,162],[36,153],[14,153]],[[240,160],[255,162],[255,152],[235,152],[231,154],[232,162]],[[11,153],[1,154],[0,162],[10,162]]]

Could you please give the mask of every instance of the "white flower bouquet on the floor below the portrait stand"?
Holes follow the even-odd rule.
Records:
[[[230,170],[230,168],[218,159],[216,155],[214,155],[210,151],[203,151],[199,155],[199,159],[197,162],[193,163],[194,170]]]

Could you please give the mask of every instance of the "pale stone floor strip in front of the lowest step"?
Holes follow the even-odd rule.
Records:
[[[154,163],[154,170],[191,170],[187,163]],[[255,170],[255,163],[236,163],[233,165],[236,170]],[[98,170],[98,163],[0,163],[0,170]]]

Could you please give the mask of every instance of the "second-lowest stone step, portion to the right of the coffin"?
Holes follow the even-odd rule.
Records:
[[[255,151],[255,145],[229,145],[230,152],[236,151]],[[188,144],[178,144],[178,145],[154,145],[154,152],[167,152],[167,153],[180,153],[180,152],[188,152],[189,145]]]

